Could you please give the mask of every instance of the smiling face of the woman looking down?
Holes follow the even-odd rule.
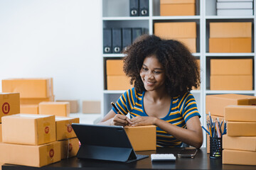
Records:
[[[154,91],[166,87],[164,68],[155,55],[150,55],[144,59],[139,74],[142,77],[146,91]]]

